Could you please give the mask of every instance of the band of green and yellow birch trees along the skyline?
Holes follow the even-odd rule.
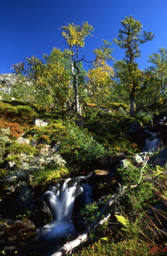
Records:
[[[80,118],[86,102],[124,101],[130,107],[131,116],[144,105],[153,108],[153,105],[165,104],[167,49],[159,48],[158,53],[148,57],[151,66],[140,69],[137,62],[141,57],[140,46],[152,41],[154,35],[142,31],[139,20],[130,15],[121,21],[118,38],[113,41],[124,49],[124,58],[114,61],[112,66],[112,43],[104,39],[100,47],[92,49],[94,60],[85,59],[83,47],[86,38],[94,32],[94,27],[87,21],[81,25],[68,23],[60,29],[67,49],[54,48],[50,55],[43,55],[43,60],[32,55],[26,61],[14,64],[15,73],[23,75],[14,87],[14,96],[20,87],[18,96],[24,98],[25,95],[26,98],[30,95],[32,101],[58,108],[75,107]],[[84,62],[89,63],[88,70],[83,69]],[[23,86],[25,75],[32,83],[28,88]]]

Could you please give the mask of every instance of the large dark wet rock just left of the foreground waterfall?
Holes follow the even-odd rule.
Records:
[[[26,184],[14,189],[0,201],[2,218],[28,218],[37,228],[52,221],[52,214],[44,201]]]

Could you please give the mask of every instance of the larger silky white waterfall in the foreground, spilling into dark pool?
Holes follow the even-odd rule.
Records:
[[[75,200],[79,197],[83,205],[92,201],[92,186],[88,177],[68,178],[61,189],[50,187],[43,195],[53,215],[53,221],[37,230],[40,241],[60,241],[61,237],[74,235],[76,230],[72,222]]]

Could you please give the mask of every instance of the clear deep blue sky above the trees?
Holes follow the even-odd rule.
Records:
[[[54,46],[66,49],[59,28],[72,22],[88,21],[95,27],[83,48],[85,58],[92,61],[92,50],[102,39],[112,43],[121,20],[130,15],[141,21],[143,30],[155,34],[152,42],[141,45],[138,62],[144,69],[149,55],[167,47],[167,0],[0,0],[0,73],[13,72],[12,64],[31,55],[42,59]],[[112,48],[115,60],[122,60],[124,49],[115,44]]]

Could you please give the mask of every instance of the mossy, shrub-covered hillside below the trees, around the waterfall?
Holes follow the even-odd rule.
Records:
[[[148,126],[147,113],[132,118],[118,103],[100,107],[88,104],[85,113],[81,123],[72,109],[56,110],[20,100],[0,102],[3,254],[26,255],[25,247],[29,248],[36,229],[41,229],[53,218],[41,200],[43,192],[50,184],[60,183],[61,186],[67,177],[82,176],[94,187],[94,202],[88,208],[83,207],[81,215],[74,207],[73,221],[78,232],[83,232],[94,220],[98,223],[98,214],[104,218],[104,214],[110,212],[110,216],[107,223],[94,232],[91,230],[92,238],[85,247],[79,247],[79,255],[96,255],[97,251],[98,255],[107,255],[111,250],[112,255],[130,255],[136,250],[138,254],[135,255],[157,255],[159,252],[165,255],[165,121],[160,126],[159,123]],[[135,121],[138,121],[137,129],[133,125]],[[158,129],[162,136],[162,143],[153,154],[141,154],[141,141],[150,136],[148,131],[143,133],[142,127],[146,125],[150,132]],[[140,185],[133,189],[137,183]],[[107,207],[107,212],[101,214],[102,207],[114,195],[113,207]],[[78,218],[87,221],[78,223]],[[73,235],[71,239],[76,237]],[[60,245],[65,242],[66,239],[60,241]],[[41,253],[39,247],[29,250],[31,253],[34,250],[34,255]],[[52,251],[47,245],[42,250],[51,255],[55,248]],[[73,253],[78,255],[78,251]]]

